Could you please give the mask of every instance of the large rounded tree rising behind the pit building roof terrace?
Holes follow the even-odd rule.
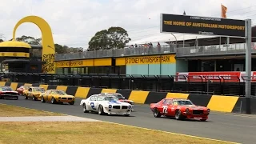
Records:
[[[90,39],[87,51],[109,50],[112,48],[122,49],[130,40],[127,31],[122,27],[110,27],[108,30],[98,31]]]

